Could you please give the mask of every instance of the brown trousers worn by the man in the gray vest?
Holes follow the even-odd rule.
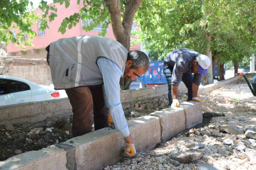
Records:
[[[66,93],[73,111],[73,137],[92,131],[92,113],[95,130],[108,127],[108,111],[102,86],[78,87],[66,90]]]

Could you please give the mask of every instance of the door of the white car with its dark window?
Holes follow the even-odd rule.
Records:
[[[30,102],[28,84],[16,80],[0,79],[0,106]]]

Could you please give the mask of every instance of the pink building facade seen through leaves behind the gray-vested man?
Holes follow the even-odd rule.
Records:
[[[49,4],[49,6],[53,5]],[[39,31],[40,27],[40,21],[35,24],[35,26],[32,26],[31,29],[34,30],[37,34],[37,36],[33,39],[34,47],[27,47],[26,51],[23,51],[21,48],[17,47],[17,44],[13,44],[10,42],[10,44],[7,46],[6,50],[9,53],[9,56],[21,56],[22,58],[46,58],[46,50],[45,48],[53,41],[56,41],[60,38],[67,38],[67,37],[74,37],[74,36],[98,36],[99,31],[101,30],[101,26],[97,26],[93,29],[93,31],[86,32],[82,29],[83,24],[86,24],[90,22],[89,20],[87,22],[79,21],[75,27],[72,27],[71,29],[66,28],[66,32],[62,34],[61,32],[58,32],[59,27],[61,26],[61,23],[65,17],[70,17],[74,13],[78,13],[79,10],[83,7],[83,4],[80,3],[77,5],[77,0],[71,0],[70,6],[66,9],[65,4],[54,4],[57,8],[57,17],[54,21],[49,22],[48,26],[49,29],[45,29],[44,31]],[[40,9],[37,9],[34,11],[34,13],[38,13],[42,15],[42,11]],[[13,30],[15,34],[19,32],[19,30]],[[111,38],[113,40],[115,39],[115,36],[113,34],[112,26],[109,24],[108,33],[106,33],[105,37]],[[131,36],[131,38],[135,38],[134,36]],[[130,50],[140,50],[140,44],[136,44],[135,46],[131,46]]]

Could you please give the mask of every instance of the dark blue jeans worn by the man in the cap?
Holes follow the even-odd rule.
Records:
[[[169,106],[172,105],[172,74],[173,74],[173,67],[168,64],[166,61],[164,62],[164,74],[168,84],[168,101]],[[192,83],[193,83],[193,74],[192,73],[183,73],[181,80],[184,82],[186,88],[188,88],[188,101],[192,100],[193,98],[193,91],[192,91]]]

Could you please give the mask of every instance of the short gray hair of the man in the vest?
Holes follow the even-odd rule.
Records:
[[[144,71],[146,72],[149,68],[149,60],[148,56],[139,50],[134,50],[128,52],[127,61],[132,61],[131,69],[138,69],[143,67]]]

